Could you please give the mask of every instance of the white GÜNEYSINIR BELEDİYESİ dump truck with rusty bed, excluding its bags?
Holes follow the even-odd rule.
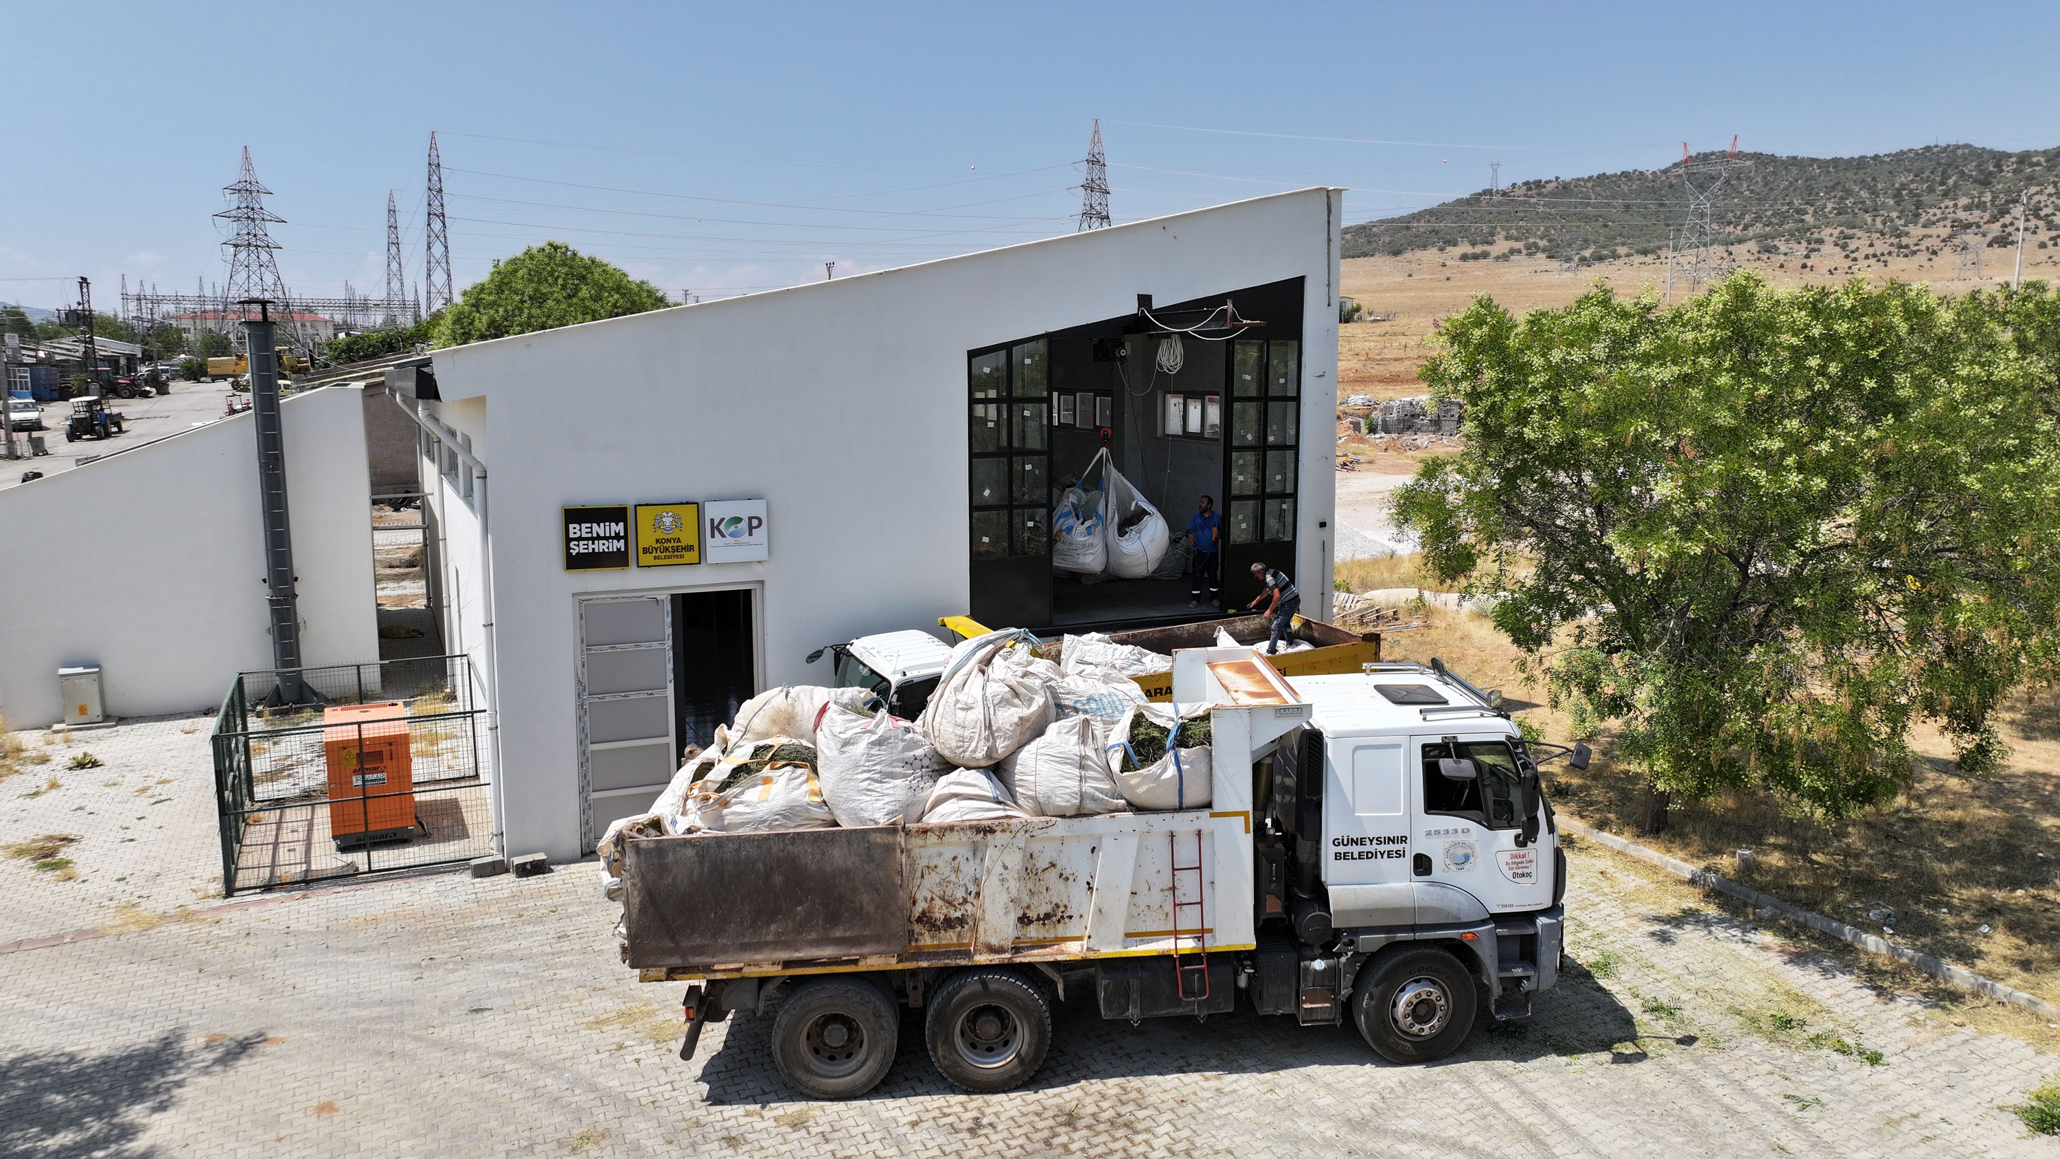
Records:
[[[855,1097],[908,1009],[946,1079],[1005,1091],[1086,986],[1106,1019],[1248,1007],[1428,1062],[1483,1005],[1518,1019],[1553,988],[1566,858],[1537,760],[1584,747],[1524,743],[1436,661],[1290,683],[1189,648],[1172,679],[1213,706],[1203,807],[628,836],[622,955],[692,982],[680,1058],[711,1019],[772,1013],[787,1083]]]

